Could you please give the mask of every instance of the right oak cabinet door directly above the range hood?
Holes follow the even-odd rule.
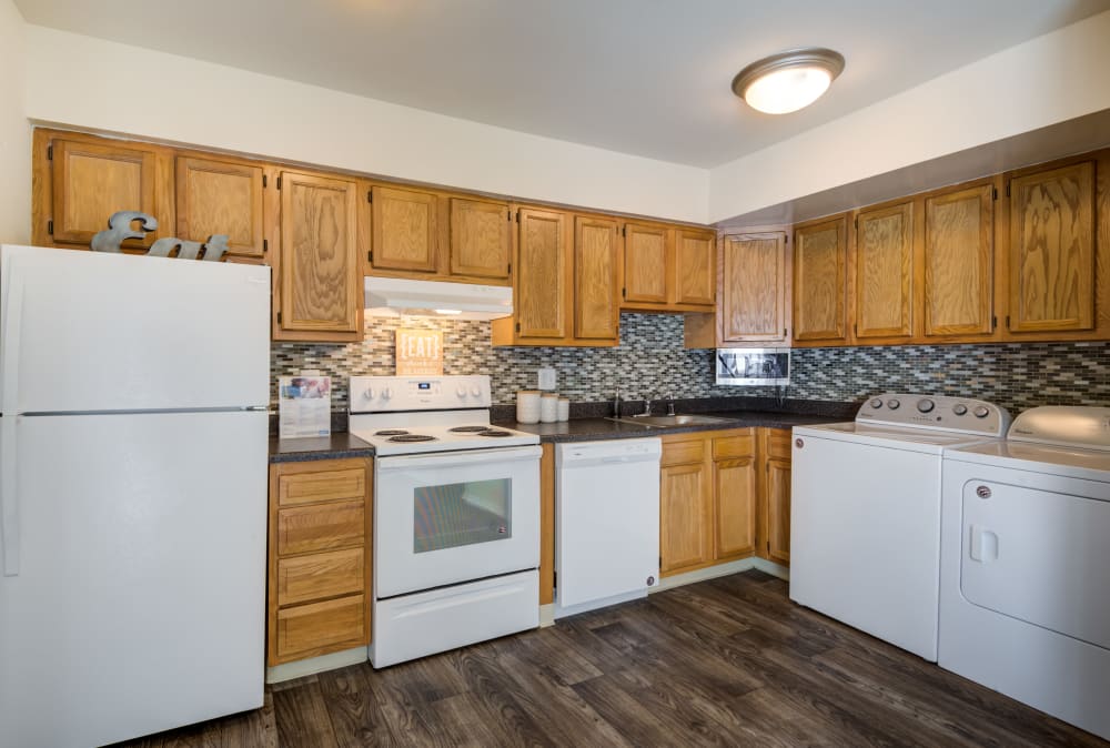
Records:
[[[508,205],[484,200],[451,199],[451,272],[505,280],[512,234]]]

